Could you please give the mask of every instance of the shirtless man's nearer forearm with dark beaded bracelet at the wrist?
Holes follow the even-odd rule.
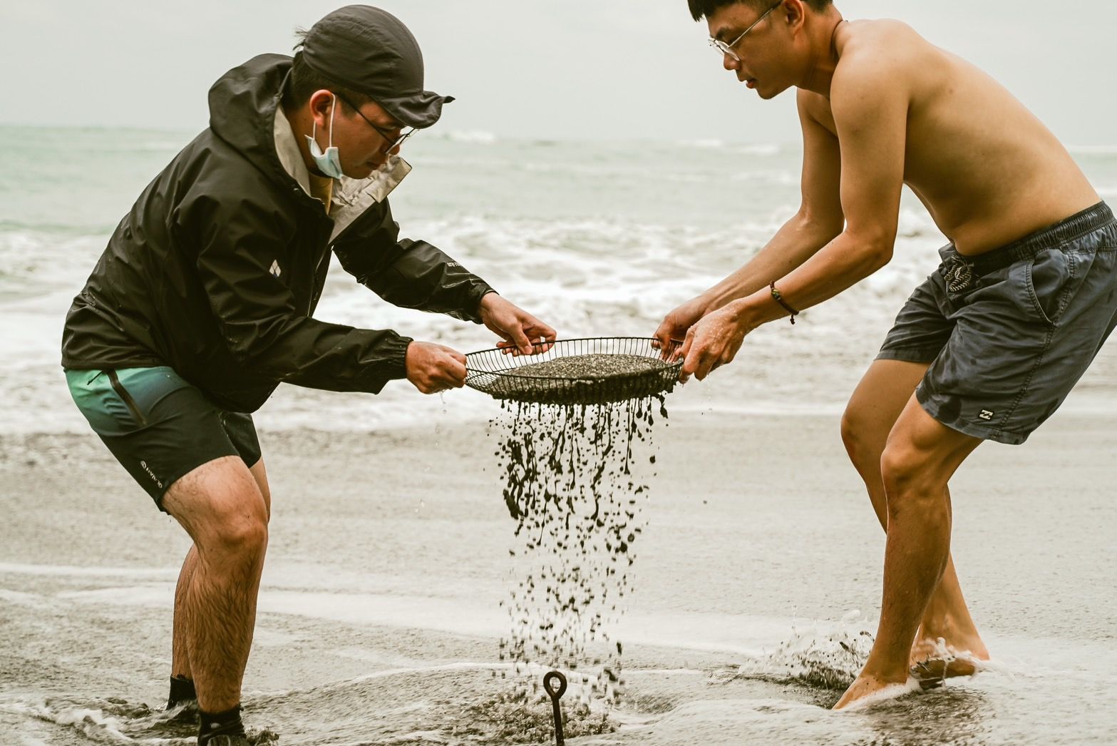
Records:
[[[891,241],[859,239],[841,233],[776,281],[784,302],[804,310],[828,300],[884,267],[891,259]],[[785,318],[789,312],[773,297],[768,284],[734,302],[734,313],[748,328]]]

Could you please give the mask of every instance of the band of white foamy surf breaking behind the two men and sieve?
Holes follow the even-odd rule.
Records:
[[[554,326],[561,337],[650,336],[669,310],[744,265],[789,212],[779,208],[716,229],[472,214],[412,220],[404,235],[441,247],[509,300]],[[57,396],[58,337],[101,242],[78,241],[59,249],[41,237],[21,241],[0,240],[0,260],[25,262],[15,266],[19,284],[40,287],[35,284],[41,283],[44,289],[4,302],[0,327],[8,355],[0,371],[13,381],[7,392],[6,429],[83,431],[85,422],[73,404]],[[707,383],[672,394],[672,405],[701,411],[712,405],[735,411],[840,411],[906,298],[938,266],[941,242],[925,213],[906,210],[894,258],[886,267],[808,309],[794,327],[768,324],[753,332],[734,365]],[[337,262],[331,267],[315,317],[361,328],[391,328],[460,352],[496,343],[481,326],[381,302]],[[1108,362],[1114,358],[1104,350],[1095,365],[1097,374],[1082,385],[1094,386],[1091,392],[1096,389],[1098,395],[1111,392],[1113,383],[1102,373],[1113,367]],[[45,401],[52,403],[44,407]],[[491,414],[491,400],[477,392],[417,396],[405,382],[393,382],[378,396],[280,386],[260,412],[259,423],[274,430],[363,432]]]

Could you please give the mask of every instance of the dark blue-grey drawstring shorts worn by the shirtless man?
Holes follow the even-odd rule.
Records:
[[[1117,221],[1100,202],[976,257],[939,255],[877,360],[930,363],[915,391],[928,414],[1022,443],[1117,326]]]

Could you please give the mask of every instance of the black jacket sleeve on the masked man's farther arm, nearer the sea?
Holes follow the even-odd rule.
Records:
[[[386,200],[372,209],[379,220],[334,245],[345,271],[392,305],[480,324],[481,297],[496,290],[427,241],[401,240]]]

